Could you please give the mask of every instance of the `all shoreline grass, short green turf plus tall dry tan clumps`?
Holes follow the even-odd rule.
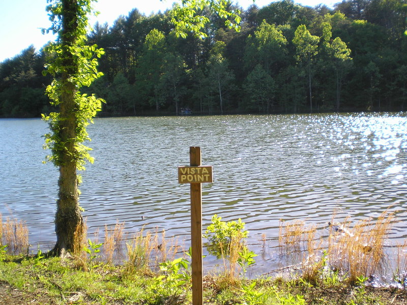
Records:
[[[217,218],[219,230],[230,230],[219,221]],[[366,286],[366,280],[384,264],[384,245],[393,222],[394,215],[389,211],[375,220],[355,224],[346,219],[336,227],[332,225],[329,236],[324,238],[317,237],[316,226],[304,221],[280,222],[280,255],[301,257],[296,265],[298,274],[292,279],[246,279],[238,263],[242,262],[242,253],[249,251],[242,223],[230,234],[226,245],[218,245],[223,270],[204,278],[204,303],[405,304],[405,289]],[[165,236],[165,231],[140,230],[126,240],[126,249],[122,249],[124,225],[117,223],[105,227],[103,243],[83,238],[83,250],[73,257],[41,259],[38,255],[16,263],[16,257],[28,251],[24,243],[26,226],[11,219],[3,223],[0,217],[0,227],[1,243],[9,250],[5,254],[3,249],[0,255],[0,296],[6,296],[2,304],[15,304],[16,298],[32,304],[191,303],[188,256],[176,239]],[[261,241],[264,245],[265,234]],[[393,272],[400,287],[405,287],[407,276],[406,245],[404,242],[397,247]],[[15,256],[18,251],[20,254]],[[121,264],[115,265],[118,258]]]

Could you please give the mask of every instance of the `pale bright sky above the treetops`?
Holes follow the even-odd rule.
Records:
[[[314,7],[325,4],[333,7],[340,0],[294,0],[295,3]],[[147,16],[159,11],[164,12],[171,8],[174,0],[99,0],[94,4],[96,11],[100,14],[97,21],[113,24],[120,15],[127,16],[133,9],[137,8]],[[253,4],[253,0],[234,0],[246,9]],[[267,6],[274,0],[255,0],[258,7]],[[48,41],[54,38],[51,35],[42,35],[41,28],[50,26],[45,8],[47,0],[0,0],[0,62],[6,58],[14,57],[30,45],[39,50]],[[91,24],[96,22],[92,18]]]

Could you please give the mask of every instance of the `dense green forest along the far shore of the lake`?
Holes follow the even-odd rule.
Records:
[[[235,8],[229,4],[230,8]],[[177,37],[170,11],[136,8],[89,43],[103,76],[82,90],[106,100],[99,116],[403,111],[406,0],[343,0],[333,9],[292,0],[241,9],[241,30],[203,8],[206,38]],[[46,54],[28,46],[0,63],[0,117],[53,111]]]

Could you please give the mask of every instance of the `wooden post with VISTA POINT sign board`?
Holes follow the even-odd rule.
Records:
[[[212,182],[212,166],[201,166],[200,148],[189,147],[190,166],[178,167],[178,182],[191,186],[192,305],[203,304],[202,288],[202,188]]]

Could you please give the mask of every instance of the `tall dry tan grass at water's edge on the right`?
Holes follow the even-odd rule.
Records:
[[[381,271],[384,245],[394,220],[387,209],[376,220],[368,219],[351,226],[349,219],[343,223],[330,223],[326,256],[322,250],[322,238],[315,238],[316,226],[306,226],[304,221],[280,220],[279,247],[281,255],[303,253],[300,263],[302,278],[315,282],[327,261],[335,271],[347,273],[353,283],[360,277],[370,277]],[[407,259],[399,258],[400,270],[407,268]]]

